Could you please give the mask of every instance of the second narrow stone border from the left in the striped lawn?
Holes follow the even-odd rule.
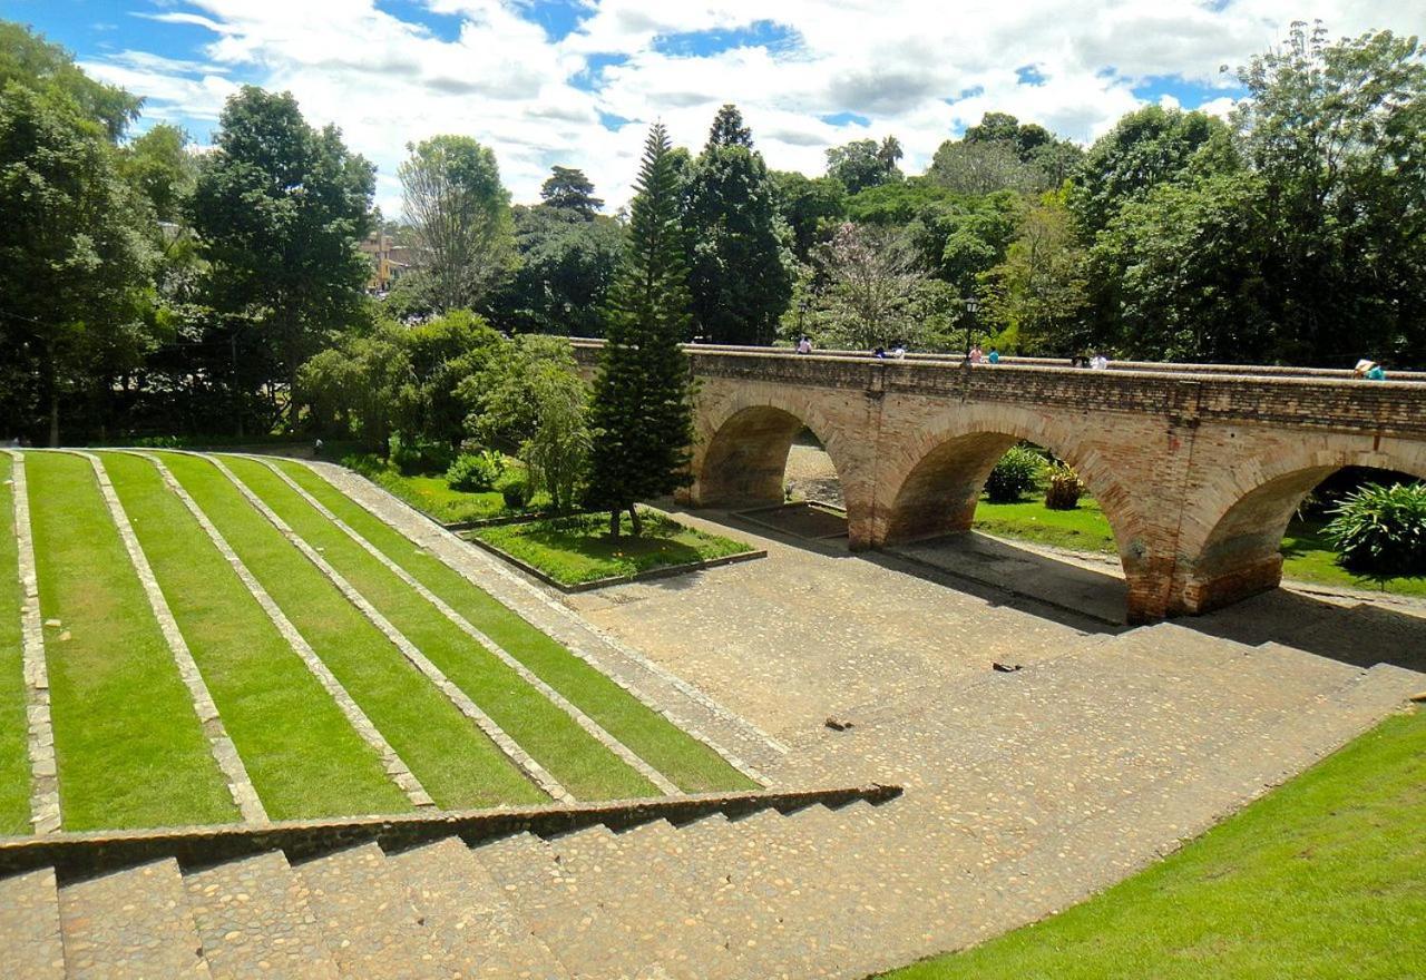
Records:
[[[267,810],[262,808],[262,801],[258,799],[257,789],[252,788],[252,779],[248,776],[247,766],[242,765],[238,746],[228,736],[228,729],[218,714],[218,705],[212,701],[212,692],[208,691],[208,684],[202,679],[202,671],[198,669],[198,662],[193,658],[193,651],[188,648],[188,641],[184,640],[183,631],[178,628],[178,621],[168,607],[168,600],[164,598],[163,590],[158,588],[158,578],[154,577],[153,565],[148,564],[148,556],[144,554],[144,548],[138,543],[138,536],[134,534],[134,526],[130,523],[128,514],[124,511],[124,504],[114,491],[108,471],[94,453],[74,452],[74,456],[88,460],[90,467],[94,470],[94,480],[98,483],[100,494],[108,507],[110,520],[114,521],[118,537],[124,543],[124,550],[128,553],[128,563],[138,577],[138,584],[144,588],[144,595],[148,598],[148,608],[158,621],[158,630],[168,644],[168,652],[178,668],[178,677],[183,679],[184,687],[188,688],[194,714],[198,715],[198,725],[208,738],[208,749],[212,752],[212,758],[218,763],[218,771],[222,772],[228,783],[232,802],[237,805],[244,820],[250,823],[267,823]]]

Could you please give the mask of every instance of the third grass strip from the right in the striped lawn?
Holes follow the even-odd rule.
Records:
[[[548,802],[217,467],[158,456],[439,806]]]

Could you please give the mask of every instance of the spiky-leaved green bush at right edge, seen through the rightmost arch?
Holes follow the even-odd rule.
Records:
[[[1343,568],[1380,578],[1426,575],[1426,483],[1369,483],[1330,513],[1323,533]]]

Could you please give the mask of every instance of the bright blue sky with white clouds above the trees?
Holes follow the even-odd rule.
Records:
[[[1291,21],[1426,34],[1426,0],[0,0],[0,19],[144,95],[137,131],[201,147],[238,85],[291,91],[398,215],[406,144],[441,132],[492,147],[519,202],[560,164],[613,209],[650,123],[696,151],[723,103],[769,167],[817,175],[829,147],[894,134],[915,174],[985,111],[1081,142],[1149,103],[1225,114],[1231,68]]]

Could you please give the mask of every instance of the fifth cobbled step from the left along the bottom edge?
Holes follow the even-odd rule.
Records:
[[[446,838],[388,860],[405,876],[418,919],[458,976],[568,980],[463,840]]]

